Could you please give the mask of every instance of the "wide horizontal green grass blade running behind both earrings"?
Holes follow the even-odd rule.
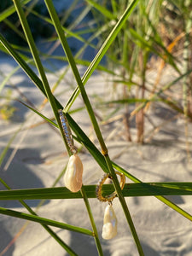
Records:
[[[113,184],[103,185],[103,195],[109,195],[113,190]],[[86,185],[83,192],[77,193],[72,193],[65,187],[2,190],[0,191],[0,200],[82,199],[82,193],[87,198],[96,198],[96,185]],[[125,197],[192,195],[192,183],[125,183],[122,193]]]

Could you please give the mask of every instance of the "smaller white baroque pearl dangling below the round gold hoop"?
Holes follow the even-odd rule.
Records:
[[[105,208],[103,226],[102,226],[102,238],[112,239],[117,235],[117,218],[113,211],[113,207],[108,205]]]

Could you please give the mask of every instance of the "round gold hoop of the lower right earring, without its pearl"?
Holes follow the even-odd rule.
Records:
[[[125,186],[125,175],[123,173],[120,172],[115,172],[117,175],[119,175],[120,177],[120,188],[123,189]],[[99,180],[99,182],[96,185],[96,197],[99,201],[108,201],[111,202],[113,201],[114,197],[117,195],[117,192],[114,191],[112,194],[110,195],[102,195],[102,185],[105,183],[107,178],[111,178],[109,173],[105,173],[102,178]]]

